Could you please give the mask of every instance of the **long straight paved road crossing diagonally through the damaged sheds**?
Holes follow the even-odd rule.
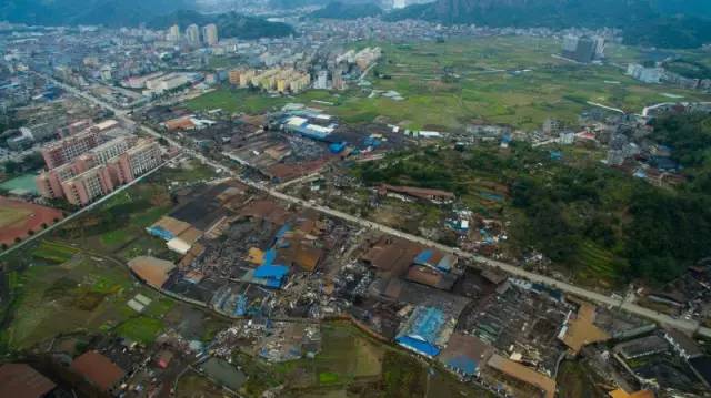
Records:
[[[47,78],[47,76],[44,76],[44,78]],[[51,78],[48,78],[48,79],[52,80],[56,84],[64,88],[69,92],[72,92],[72,93],[74,93],[74,94],[77,94],[77,95],[79,95],[79,96],[81,96],[81,98],[83,98],[83,99],[86,99],[88,101],[91,101],[91,102],[93,102],[93,103],[96,103],[96,104],[98,104],[100,106],[103,106],[106,109],[109,109],[109,110],[113,111],[117,114],[117,116],[119,116],[120,119],[127,119],[127,120],[130,121],[130,119],[128,119],[128,116],[127,116],[127,112],[126,111],[120,111],[120,110],[111,106],[110,104],[106,103],[104,101],[96,99],[92,95],[88,95],[86,93],[82,93],[82,92],[78,91],[77,89],[74,89],[72,86],[69,86],[69,85],[63,84],[61,82],[54,81]],[[589,289],[585,289],[585,288],[582,288],[582,287],[579,287],[579,286],[574,286],[574,285],[568,284],[568,283],[560,282],[560,280],[558,280],[555,278],[552,278],[552,277],[549,277],[549,276],[544,276],[544,275],[540,275],[540,274],[537,274],[537,273],[532,273],[532,272],[522,269],[521,267],[518,267],[518,266],[512,265],[512,264],[499,262],[499,261],[491,259],[491,258],[488,258],[488,257],[484,257],[484,256],[481,256],[481,255],[477,255],[477,254],[473,254],[473,253],[463,252],[463,251],[461,251],[459,248],[444,246],[444,245],[441,245],[441,244],[439,244],[439,243],[437,243],[434,241],[430,241],[430,239],[427,239],[427,238],[421,237],[421,236],[415,236],[415,235],[412,235],[412,234],[408,234],[405,232],[398,231],[395,228],[391,228],[391,227],[389,227],[387,225],[373,223],[371,221],[363,220],[361,217],[356,217],[356,216],[352,216],[352,215],[350,215],[348,213],[343,213],[343,212],[340,212],[340,211],[337,211],[337,210],[333,210],[333,208],[330,208],[330,207],[326,207],[326,206],[321,206],[321,205],[318,205],[318,204],[309,203],[309,202],[303,201],[301,198],[293,197],[293,196],[287,195],[284,193],[281,193],[281,192],[279,192],[279,191],[277,191],[277,190],[274,190],[272,187],[268,187],[264,184],[259,184],[259,183],[256,183],[256,182],[252,182],[252,181],[242,180],[238,175],[238,173],[236,173],[233,170],[231,170],[230,167],[226,166],[224,164],[220,164],[218,162],[214,162],[214,161],[206,157],[201,153],[199,153],[197,151],[193,151],[192,149],[186,147],[182,144],[180,144],[179,142],[176,142],[174,140],[171,140],[168,136],[161,135],[160,133],[156,132],[154,130],[152,130],[152,129],[150,129],[148,126],[140,125],[140,129],[147,134],[150,134],[150,135],[152,135],[154,137],[162,137],[162,139],[167,140],[171,145],[174,145],[177,147],[181,147],[184,152],[187,152],[188,154],[199,159],[204,164],[209,164],[209,165],[211,165],[211,166],[213,166],[216,169],[224,170],[228,174],[230,174],[232,177],[237,178],[238,181],[242,182],[243,184],[249,185],[249,186],[251,186],[251,187],[253,187],[253,188],[256,188],[258,191],[264,192],[264,193],[267,193],[267,194],[269,194],[269,195],[271,195],[271,196],[273,196],[276,198],[279,198],[281,201],[293,203],[293,204],[300,205],[302,207],[312,208],[312,210],[316,210],[316,211],[321,212],[323,214],[330,215],[332,217],[341,218],[341,220],[348,221],[348,222],[353,223],[353,224],[358,224],[360,226],[363,226],[363,227],[367,227],[367,228],[370,228],[370,229],[375,229],[375,231],[379,231],[379,232],[382,232],[382,233],[385,233],[385,234],[390,234],[390,235],[393,235],[393,236],[398,236],[398,237],[401,237],[401,238],[404,238],[404,239],[408,239],[408,241],[411,241],[411,242],[415,242],[415,243],[419,243],[419,244],[422,244],[422,245],[425,245],[425,246],[437,247],[437,248],[439,248],[439,249],[441,249],[443,252],[452,253],[452,254],[455,254],[459,257],[468,258],[468,259],[470,259],[470,261],[472,261],[474,263],[478,263],[478,265],[472,265],[474,267],[479,267],[480,265],[485,265],[488,267],[505,272],[505,273],[508,273],[510,275],[513,275],[515,277],[519,277],[519,278],[522,278],[522,279],[527,279],[527,280],[533,282],[533,283],[544,284],[544,285],[554,287],[557,289],[560,289],[560,290],[562,290],[562,292],[564,292],[567,294],[574,295],[574,296],[578,296],[578,297],[582,297],[584,299],[588,299],[588,300],[591,300],[591,302],[594,302],[594,303],[598,303],[598,304],[601,304],[601,305],[604,305],[604,306],[619,307],[619,308],[621,308],[621,309],[623,309],[623,310],[625,310],[628,313],[631,313],[631,314],[648,318],[650,320],[657,322],[657,323],[665,325],[665,326],[671,326],[671,327],[675,327],[675,328],[688,330],[688,331],[695,331],[701,336],[711,337],[711,328],[702,327],[695,320],[677,319],[677,318],[670,317],[670,316],[668,316],[665,314],[661,314],[661,313],[654,312],[652,309],[639,306],[637,304],[629,303],[629,302],[624,300],[624,298],[617,298],[617,297],[605,296],[605,295],[600,294],[598,292],[589,290]]]

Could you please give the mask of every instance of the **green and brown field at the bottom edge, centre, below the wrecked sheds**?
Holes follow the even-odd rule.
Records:
[[[491,396],[461,385],[439,366],[427,366],[402,349],[372,339],[350,323],[322,323],[321,337],[321,351],[312,359],[268,364],[246,354],[233,357],[248,375],[241,392],[260,396],[267,388],[283,386],[288,397],[342,397],[346,391],[359,397]]]

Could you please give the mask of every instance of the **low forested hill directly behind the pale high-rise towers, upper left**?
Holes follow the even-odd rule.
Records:
[[[148,23],[148,27],[152,29],[166,29],[172,24],[178,24],[184,30],[192,23],[198,25],[206,25],[208,23],[217,24],[220,38],[249,40],[259,38],[281,38],[294,33],[294,30],[290,24],[270,22],[263,18],[242,16],[236,12],[202,14],[196,11],[177,11],[168,16],[153,18]]]

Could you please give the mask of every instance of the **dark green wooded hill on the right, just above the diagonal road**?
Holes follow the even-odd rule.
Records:
[[[424,149],[391,154],[354,167],[372,186],[382,183],[455,192],[478,212],[510,222],[514,256],[540,252],[574,275],[625,285],[659,285],[711,258],[711,115],[657,119],[651,139],[672,147],[687,181],[662,188],[599,162],[559,161],[549,151],[514,142],[498,151]],[[509,187],[494,205],[481,205],[490,181]]]

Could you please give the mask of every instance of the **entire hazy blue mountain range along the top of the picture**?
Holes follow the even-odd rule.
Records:
[[[276,8],[324,4],[327,0],[264,0]],[[314,18],[380,14],[372,0],[341,0]],[[365,4],[363,4],[365,3]],[[131,27],[180,19],[214,22],[221,35],[254,38],[293,33],[286,24],[236,13],[202,16],[197,0],[0,0],[0,20],[42,25]],[[191,13],[192,12],[192,13]],[[437,0],[383,14],[387,20],[422,19],[489,27],[619,28],[629,44],[697,48],[711,43],[711,0]],[[202,21],[202,22],[198,22]]]

